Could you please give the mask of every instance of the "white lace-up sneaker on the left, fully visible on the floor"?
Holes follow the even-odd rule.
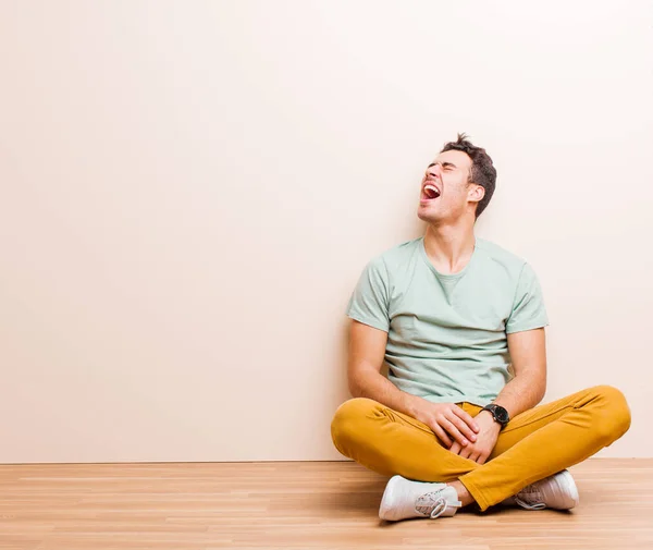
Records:
[[[411,481],[394,476],[383,492],[379,517],[398,522],[409,517],[451,517],[461,506],[454,487],[446,484]]]

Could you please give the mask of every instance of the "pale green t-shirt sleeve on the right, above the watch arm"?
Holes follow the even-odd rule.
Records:
[[[506,333],[540,329],[547,325],[540,282],[533,269],[525,264],[517,282],[513,311],[506,321]]]

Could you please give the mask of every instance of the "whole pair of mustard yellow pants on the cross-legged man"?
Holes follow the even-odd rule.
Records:
[[[472,417],[481,411],[457,404]],[[452,453],[426,424],[365,398],[337,408],[331,436],[342,454],[379,474],[418,481],[459,479],[485,511],[527,485],[584,461],[629,427],[624,394],[597,386],[517,415],[484,464]]]

